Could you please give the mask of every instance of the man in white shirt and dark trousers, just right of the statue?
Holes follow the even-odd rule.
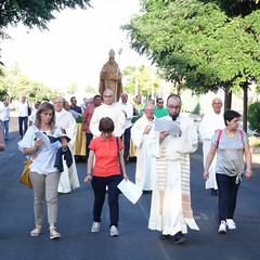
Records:
[[[131,119],[133,117],[133,105],[128,102],[128,93],[126,92],[121,93],[121,102],[119,102],[119,104],[126,117],[125,132],[123,132],[123,159],[125,159],[125,164],[127,164],[129,150],[130,150],[130,139],[131,139],[131,128],[132,128]]]

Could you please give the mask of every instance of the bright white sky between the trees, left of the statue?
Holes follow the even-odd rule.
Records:
[[[1,61],[8,68],[17,63],[31,80],[61,90],[72,83],[79,90],[88,84],[98,89],[110,49],[121,70],[127,65],[150,64],[130,50],[126,32],[120,30],[140,10],[139,0],[92,0],[91,4],[93,9],[55,13],[49,30],[10,27],[6,32],[12,40],[1,42]]]

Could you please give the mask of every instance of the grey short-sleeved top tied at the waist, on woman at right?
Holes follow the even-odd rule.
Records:
[[[217,145],[219,131],[214,132],[212,143]],[[234,177],[244,173],[244,144],[248,143],[248,136],[243,131],[236,131],[233,138],[229,138],[224,130],[218,144],[216,173]]]

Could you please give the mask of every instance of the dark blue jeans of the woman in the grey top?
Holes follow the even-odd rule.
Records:
[[[219,221],[226,219],[233,219],[236,196],[239,187],[239,183],[235,183],[236,177],[229,177],[225,174],[216,174],[218,188],[219,188]]]

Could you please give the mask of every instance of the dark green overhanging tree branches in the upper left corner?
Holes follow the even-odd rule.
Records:
[[[91,8],[90,0],[10,0],[0,2],[0,38],[9,37],[4,30],[9,25],[48,29],[48,23],[55,18],[53,12],[70,9]]]

